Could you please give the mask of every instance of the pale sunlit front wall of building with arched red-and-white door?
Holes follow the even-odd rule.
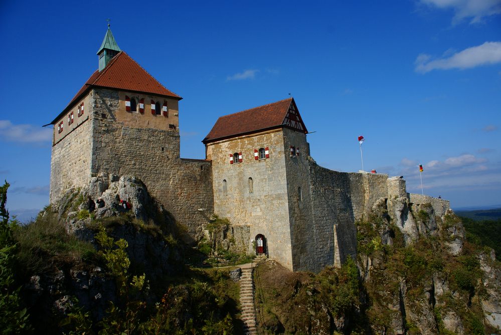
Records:
[[[266,147],[269,147],[270,157],[255,160],[254,149]],[[285,152],[282,131],[272,130],[209,143],[206,151],[213,166],[215,213],[228,218],[234,225],[250,227],[249,252],[255,252],[252,240],[257,234],[263,234],[269,257],[292,269],[284,173],[288,150]],[[230,164],[230,154],[239,152],[243,161]],[[252,178],[252,190],[249,178]]]

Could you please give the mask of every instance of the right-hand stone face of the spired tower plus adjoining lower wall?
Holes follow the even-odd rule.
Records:
[[[118,92],[96,89],[91,94],[92,175],[138,177],[192,237],[201,237],[207,213],[214,210],[211,162],[179,157],[179,129],[135,128],[120,121],[129,112],[119,108],[124,103]],[[135,114],[130,117],[155,117]]]

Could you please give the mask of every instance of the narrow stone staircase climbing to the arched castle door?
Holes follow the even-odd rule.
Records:
[[[244,333],[257,334],[256,313],[254,310],[254,280],[252,279],[253,267],[242,266],[240,278],[240,306],[242,308],[242,320],[244,321]]]

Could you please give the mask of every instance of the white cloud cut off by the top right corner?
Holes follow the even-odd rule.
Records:
[[[501,0],[421,0],[422,4],[454,11],[453,23],[471,18],[479,23],[482,18],[501,13]]]

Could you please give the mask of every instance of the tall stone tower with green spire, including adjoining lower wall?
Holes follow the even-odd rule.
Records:
[[[51,202],[95,176],[134,175],[200,234],[213,209],[211,163],[180,158],[182,98],[121,51],[109,27],[97,54],[98,70],[51,122]]]

